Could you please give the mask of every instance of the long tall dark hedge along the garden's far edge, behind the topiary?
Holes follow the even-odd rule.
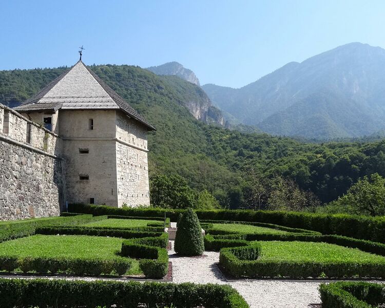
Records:
[[[122,215],[139,217],[167,217],[177,221],[181,209],[167,211],[161,208],[112,208],[103,205],[71,204],[75,213],[93,215]],[[262,222],[313,230],[322,234],[337,234],[358,239],[385,242],[385,217],[368,217],[345,214],[313,214],[268,210],[197,210],[201,220]]]

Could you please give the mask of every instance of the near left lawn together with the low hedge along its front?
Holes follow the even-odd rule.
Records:
[[[0,243],[0,269],[75,275],[139,274],[138,261],[119,256],[122,239],[33,235]]]

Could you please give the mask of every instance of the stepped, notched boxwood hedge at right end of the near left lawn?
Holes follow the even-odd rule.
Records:
[[[163,278],[168,272],[168,235],[131,239],[122,243],[122,256],[140,259],[139,267],[147,278]]]

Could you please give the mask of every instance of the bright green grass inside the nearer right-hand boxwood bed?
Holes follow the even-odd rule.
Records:
[[[385,258],[356,248],[314,242],[259,242],[261,261],[385,262]]]

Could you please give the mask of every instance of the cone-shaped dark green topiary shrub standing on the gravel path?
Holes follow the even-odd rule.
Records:
[[[183,256],[200,256],[204,251],[203,235],[198,216],[192,209],[182,215],[177,224],[175,251]]]

